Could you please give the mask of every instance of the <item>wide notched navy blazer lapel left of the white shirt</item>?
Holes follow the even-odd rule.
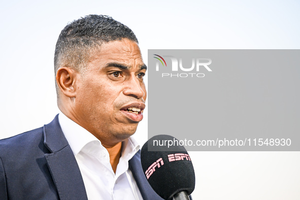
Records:
[[[87,199],[79,166],[58,122],[58,115],[44,125],[45,154],[60,199]]]

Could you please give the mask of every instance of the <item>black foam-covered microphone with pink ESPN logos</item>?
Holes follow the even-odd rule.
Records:
[[[195,172],[187,151],[176,138],[158,135],[148,140],[141,150],[141,162],[149,184],[160,197],[189,199],[195,188]]]

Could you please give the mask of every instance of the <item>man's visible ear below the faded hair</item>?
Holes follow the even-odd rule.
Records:
[[[76,84],[78,72],[65,66],[58,68],[56,72],[56,83],[60,91],[68,97],[76,96]]]

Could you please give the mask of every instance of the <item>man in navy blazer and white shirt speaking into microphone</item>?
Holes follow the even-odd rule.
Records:
[[[146,99],[134,32],[108,16],[73,21],[58,38],[54,69],[61,113],[0,141],[0,199],[161,199],[130,137]]]

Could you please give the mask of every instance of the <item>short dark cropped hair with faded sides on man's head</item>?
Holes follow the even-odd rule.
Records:
[[[122,40],[138,42],[134,32],[106,15],[88,15],[66,25],[57,40],[54,54],[55,74],[59,66],[81,71],[94,48]]]

